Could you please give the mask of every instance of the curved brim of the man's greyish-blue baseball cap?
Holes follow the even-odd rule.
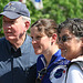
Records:
[[[9,11],[3,11],[2,13],[0,13],[0,17],[1,15],[4,15],[9,19],[17,19],[17,18],[21,17],[21,14],[18,14],[18,13],[14,13],[14,12],[11,12],[11,11],[10,12]]]

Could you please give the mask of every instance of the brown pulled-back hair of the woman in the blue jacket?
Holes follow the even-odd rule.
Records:
[[[40,19],[31,25],[33,27],[37,27],[40,32],[44,31],[48,37],[52,37],[53,33],[56,33],[58,24],[52,19]]]

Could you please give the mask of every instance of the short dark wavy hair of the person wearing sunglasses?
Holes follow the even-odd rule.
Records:
[[[75,37],[83,38],[83,19],[66,19],[58,28],[58,33],[61,33],[62,29],[69,29]]]

